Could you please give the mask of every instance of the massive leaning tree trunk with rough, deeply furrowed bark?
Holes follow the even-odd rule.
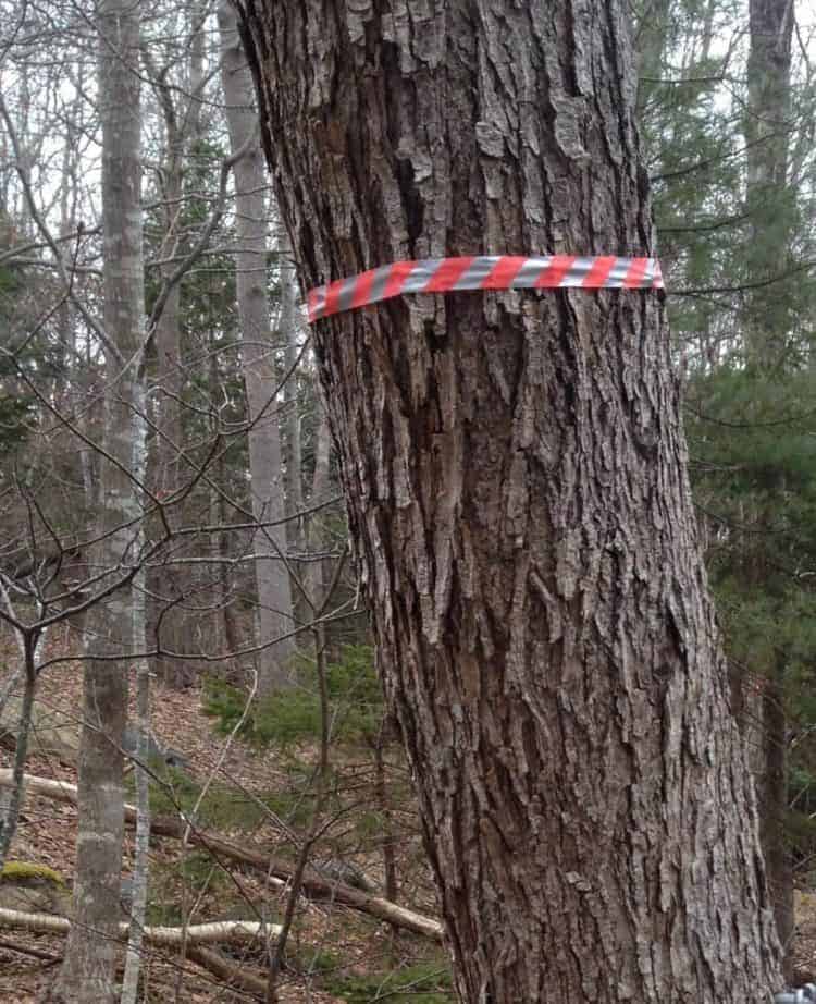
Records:
[[[305,285],[651,252],[621,0],[238,8]],[[405,297],[314,344],[461,999],[764,1000],[778,944],[658,296]]]

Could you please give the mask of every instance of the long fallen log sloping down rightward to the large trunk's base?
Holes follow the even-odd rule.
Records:
[[[39,795],[44,798],[50,798],[54,801],[62,801],[69,805],[76,805],[76,785],[69,784],[64,781],[50,781],[47,778],[37,778],[34,774],[25,775],[25,793],[27,795]],[[0,787],[9,787],[12,784],[12,772],[9,769],[0,770]],[[136,820],[136,807],[125,805],[125,820],[133,824]],[[156,836],[168,836],[174,840],[182,840],[188,822],[164,817],[156,819],[152,823],[152,832]],[[292,879],[293,866],[288,861],[277,858],[270,858],[261,850],[254,850],[249,847],[238,847],[228,841],[222,840],[212,833],[206,833],[202,830],[191,829],[189,842],[199,847],[203,847],[215,859],[227,858],[238,865],[245,865],[249,868],[258,869],[264,876],[271,876],[276,879],[288,881]],[[397,906],[390,899],[383,899],[381,896],[372,896],[369,893],[351,889],[350,885],[344,885],[339,882],[327,881],[313,870],[309,870],[302,879],[302,891],[306,895],[314,899],[329,899],[333,903],[339,903],[343,906],[368,914],[378,920],[384,920],[395,927],[415,934],[421,934],[424,938],[431,938],[434,941],[442,941],[444,938],[444,928],[438,920],[426,917],[423,914],[417,914],[413,910]]]

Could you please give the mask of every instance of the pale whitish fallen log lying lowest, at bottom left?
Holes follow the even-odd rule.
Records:
[[[127,941],[129,923],[122,921],[119,936]],[[58,914],[27,914],[24,910],[0,908],[0,928],[13,931],[32,931],[37,934],[67,934],[71,921]],[[273,923],[256,920],[217,920],[211,923],[187,926],[187,941],[197,945],[242,944],[259,939],[276,938],[281,928]],[[182,943],[184,928],[146,927],[143,930],[146,943],[172,948]]]

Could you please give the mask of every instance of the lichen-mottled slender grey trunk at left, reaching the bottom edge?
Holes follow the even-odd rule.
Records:
[[[103,0],[99,7],[99,101],[102,122],[103,323],[106,351],[106,453],[100,462],[99,528],[91,549],[95,570],[111,577],[136,560],[133,524],[140,507],[133,481],[138,415],[138,347],[144,323],[141,208],[139,199],[139,7]],[[115,579],[114,579],[115,580]],[[134,597],[121,587],[87,619],[79,749],[74,918],[53,996],[69,1004],[114,1000],[114,948],[120,921],[124,834],[121,752],[127,712],[126,654]],[[103,658],[107,657],[107,658]],[[109,661],[118,657],[119,661]]]

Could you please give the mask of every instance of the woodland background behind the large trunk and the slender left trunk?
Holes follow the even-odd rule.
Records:
[[[126,561],[106,549],[119,419],[86,7],[0,2],[0,990],[28,1000],[61,957],[59,935],[3,930],[2,909],[66,913],[75,808],[33,782],[21,804],[12,771],[75,782],[90,653],[133,676],[127,798],[153,816],[149,847],[128,831],[123,1000],[133,959],[144,1000],[452,1000],[251,81],[228,7],[207,0],[140,4],[127,68],[145,325],[122,359]],[[801,982],[816,971],[816,10],[652,0],[632,23],[695,500]],[[236,920],[285,935],[199,942],[197,925]],[[178,943],[140,943],[145,925]]]

